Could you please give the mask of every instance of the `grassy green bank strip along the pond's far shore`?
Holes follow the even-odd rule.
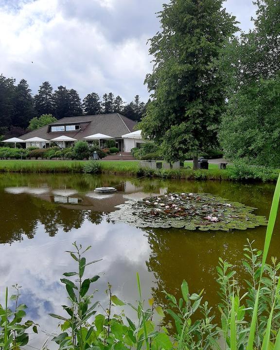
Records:
[[[84,167],[93,161],[88,160],[0,160],[0,173],[83,173]],[[209,170],[192,169],[148,169],[141,168],[139,161],[94,161],[98,172],[115,175],[137,175],[185,180],[216,181],[262,181],[276,182],[279,169],[248,166],[240,161],[220,170],[217,164],[209,164]],[[192,163],[185,162],[186,166]],[[97,172],[95,172],[97,173]]]

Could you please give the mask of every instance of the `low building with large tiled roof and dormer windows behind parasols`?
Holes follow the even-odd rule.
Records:
[[[59,138],[61,140],[55,143],[63,148],[72,145],[73,141],[68,141],[68,138],[87,140],[85,138],[90,135],[104,134],[115,140],[116,147],[121,152],[130,152],[131,148],[139,147],[140,143],[144,142],[140,134],[138,136],[139,139],[135,139],[135,136],[133,136],[133,141],[131,140],[129,135],[134,132],[135,125],[136,122],[119,113],[69,117],[24,134],[20,139],[33,139],[33,141],[26,142],[26,147],[36,146],[43,148],[46,147],[46,144],[53,142],[53,139]],[[63,141],[64,138],[65,140]],[[105,144],[105,140],[99,140],[101,146]]]

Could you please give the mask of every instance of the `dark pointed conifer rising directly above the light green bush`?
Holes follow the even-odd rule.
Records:
[[[53,87],[44,82],[34,96],[35,111],[37,115],[53,113]]]

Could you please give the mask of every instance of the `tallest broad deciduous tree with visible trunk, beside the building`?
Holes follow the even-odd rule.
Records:
[[[218,67],[221,48],[235,33],[222,0],[171,0],[159,14],[162,31],[150,40],[152,92],[140,127],[161,144],[167,161],[184,160],[214,146],[225,93]]]

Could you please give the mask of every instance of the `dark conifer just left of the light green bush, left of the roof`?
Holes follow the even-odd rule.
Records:
[[[31,89],[26,80],[21,79],[15,88],[12,104],[12,125],[26,128],[35,115]]]

